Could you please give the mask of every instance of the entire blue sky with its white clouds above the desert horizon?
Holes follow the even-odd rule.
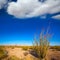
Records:
[[[0,45],[32,45],[50,26],[50,45],[60,45],[60,0],[0,0]]]

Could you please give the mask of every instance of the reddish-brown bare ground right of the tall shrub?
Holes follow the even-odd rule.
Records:
[[[60,60],[60,51],[49,50],[47,53],[47,60]]]

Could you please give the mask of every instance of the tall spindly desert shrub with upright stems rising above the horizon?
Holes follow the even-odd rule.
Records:
[[[49,50],[49,34],[42,31],[39,39],[34,38],[33,50],[37,53],[39,60],[46,60],[47,51]]]

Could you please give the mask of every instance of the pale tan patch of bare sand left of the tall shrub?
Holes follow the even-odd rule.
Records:
[[[22,48],[7,48],[6,49],[7,52],[8,52],[8,56],[16,56],[20,59],[24,59],[25,58],[25,55],[24,53],[28,53],[27,51],[24,51]]]

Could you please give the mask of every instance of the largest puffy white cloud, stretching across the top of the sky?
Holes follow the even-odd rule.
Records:
[[[7,12],[17,18],[54,14],[60,12],[60,0],[46,0],[43,3],[39,0],[17,0],[9,3]]]

